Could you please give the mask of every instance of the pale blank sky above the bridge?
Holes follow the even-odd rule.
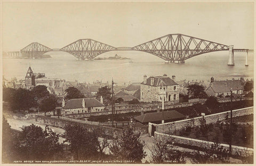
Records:
[[[253,3],[3,3],[3,51],[32,42],[62,48],[82,38],[133,47],[185,34],[253,49]]]

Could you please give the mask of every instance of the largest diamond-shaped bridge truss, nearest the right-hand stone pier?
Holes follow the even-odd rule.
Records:
[[[229,46],[182,34],[170,34],[133,47],[133,50],[147,52],[166,61],[184,61],[190,57],[227,51]]]

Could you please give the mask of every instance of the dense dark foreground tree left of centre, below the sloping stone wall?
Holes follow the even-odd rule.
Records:
[[[62,137],[70,143],[71,153],[76,160],[98,160],[98,157],[95,157],[98,156],[98,137],[92,130],[79,124],[67,124],[64,129]]]

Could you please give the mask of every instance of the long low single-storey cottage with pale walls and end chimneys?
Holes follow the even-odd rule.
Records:
[[[65,114],[102,112],[105,108],[102,97],[100,101],[96,98],[73,98],[65,102],[63,99],[62,108]]]

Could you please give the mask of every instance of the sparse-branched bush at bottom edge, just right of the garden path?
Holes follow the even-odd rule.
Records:
[[[154,138],[151,148],[151,159],[154,164],[163,163],[186,163],[185,155],[177,150],[172,144],[169,136],[159,136]]]

